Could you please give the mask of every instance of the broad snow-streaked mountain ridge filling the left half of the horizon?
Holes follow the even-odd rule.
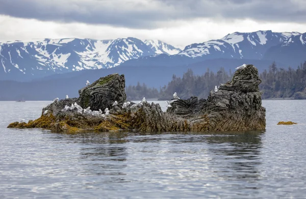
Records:
[[[158,41],[147,43],[136,38],[116,40],[44,39],[0,43],[0,73],[62,73],[84,69],[112,68],[141,56],[179,52]]]

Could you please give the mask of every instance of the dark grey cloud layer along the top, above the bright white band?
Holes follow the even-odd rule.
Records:
[[[42,21],[153,29],[171,20],[244,19],[305,23],[304,0],[0,0],[0,14]]]

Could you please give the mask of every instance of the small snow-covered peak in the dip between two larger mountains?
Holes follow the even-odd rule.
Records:
[[[149,46],[152,50],[154,50],[157,54],[168,54],[173,55],[182,51],[180,48],[175,48],[165,42],[160,40],[143,40],[143,42]]]

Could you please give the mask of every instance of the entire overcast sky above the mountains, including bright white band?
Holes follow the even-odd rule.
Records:
[[[185,46],[233,32],[306,32],[306,0],[0,0],[0,40],[159,39]]]

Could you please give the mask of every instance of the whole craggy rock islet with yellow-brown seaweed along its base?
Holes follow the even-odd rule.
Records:
[[[60,100],[43,109],[45,116],[27,123],[12,123],[10,128],[46,128],[56,131],[136,129],[139,131],[234,131],[265,129],[265,108],[261,104],[258,70],[252,65],[235,72],[231,81],[221,84],[218,92],[211,91],[208,99],[191,97],[171,103],[166,112],[159,104],[144,103],[133,109],[121,108],[126,100],[124,76],[113,74],[79,91],[80,98]],[[117,100],[118,106],[112,107]],[[62,112],[65,105],[77,102],[92,110],[106,107],[111,115],[103,118]],[[133,104],[133,103],[132,103]],[[131,105],[132,105],[131,104]],[[131,106],[130,105],[130,106]]]

